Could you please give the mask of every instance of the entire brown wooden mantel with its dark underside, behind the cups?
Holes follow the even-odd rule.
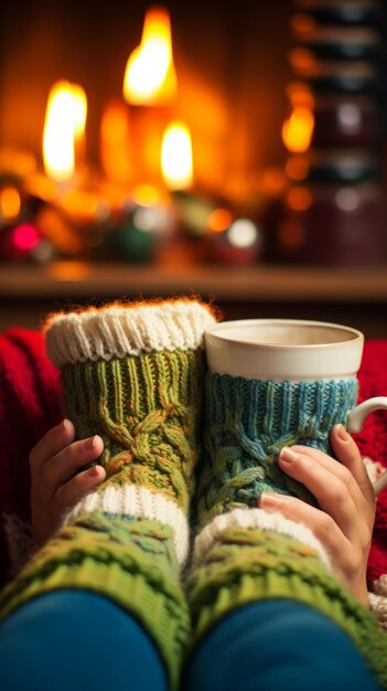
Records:
[[[387,266],[0,265],[0,330],[39,328],[66,306],[190,294],[213,299],[226,319],[318,319],[387,338]]]

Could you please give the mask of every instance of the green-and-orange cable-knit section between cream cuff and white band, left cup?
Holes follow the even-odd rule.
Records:
[[[142,353],[63,368],[77,436],[99,434],[108,486],[162,492],[186,512],[198,453],[203,351]]]

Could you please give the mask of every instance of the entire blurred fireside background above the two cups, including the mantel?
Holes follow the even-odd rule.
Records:
[[[387,338],[383,0],[20,0],[0,32],[1,329],[195,293]]]

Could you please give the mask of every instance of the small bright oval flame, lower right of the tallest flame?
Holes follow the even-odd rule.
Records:
[[[193,182],[191,132],[183,123],[171,123],[161,146],[161,169],[170,190],[184,190]]]

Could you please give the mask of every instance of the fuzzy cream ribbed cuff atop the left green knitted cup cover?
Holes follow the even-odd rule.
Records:
[[[212,310],[196,300],[144,302],[56,313],[45,323],[47,353],[56,366],[141,352],[203,348]]]

